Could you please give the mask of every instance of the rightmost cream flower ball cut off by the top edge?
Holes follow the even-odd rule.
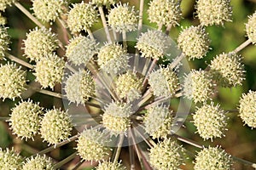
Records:
[[[225,21],[232,21],[230,0],[198,0],[197,15],[202,26],[224,25]]]

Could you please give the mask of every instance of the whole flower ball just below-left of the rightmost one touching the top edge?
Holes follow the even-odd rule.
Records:
[[[203,58],[209,49],[210,39],[203,26],[190,26],[177,37],[177,46],[189,59]]]

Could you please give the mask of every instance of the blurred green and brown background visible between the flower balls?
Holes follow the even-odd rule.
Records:
[[[75,3],[79,1],[71,1]],[[138,0],[124,0],[123,3],[129,2],[134,5],[137,9],[139,7]],[[148,0],[145,0],[144,8],[148,8]],[[32,3],[26,0],[20,0],[26,8],[31,8]],[[233,22],[225,23],[224,26],[209,26],[207,27],[207,32],[211,37],[211,48],[212,50],[207,54],[205,59],[196,59],[189,61],[189,65],[193,69],[206,68],[210,60],[217,54],[223,52],[229,52],[235,49],[237,46],[244,42],[247,37],[245,35],[245,23],[247,22],[247,15],[253,14],[256,9],[255,0],[231,0],[233,6]],[[177,35],[179,31],[182,30],[181,27],[186,26],[197,26],[199,21],[195,17],[195,1],[194,0],[183,0],[182,10],[183,10],[183,20],[181,20],[180,26],[172,28],[171,37],[174,41],[177,40]],[[7,8],[3,16],[7,17],[9,35],[11,39],[11,51],[10,54],[20,57],[21,59],[27,60],[22,56],[22,41],[26,38],[26,32],[34,28],[35,25],[31,20],[28,20],[24,14],[22,14],[19,9],[15,7]],[[147,20],[147,13],[143,14],[143,24],[147,26],[156,27],[154,24],[149,23]],[[55,24],[52,26],[54,31]],[[93,30],[102,28],[101,23],[96,24]],[[256,28],[255,28],[256,29]],[[238,100],[242,93],[247,93],[249,89],[256,90],[256,46],[249,45],[240,52],[243,57],[243,63],[246,68],[246,81],[241,87],[237,88],[218,88],[218,94],[214,98],[214,102],[219,103],[224,110],[236,110],[238,105]],[[5,63],[7,61],[2,61]],[[29,79],[33,79],[32,74],[27,76]],[[61,86],[56,87],[56,90],[61,92]],[[54,99],[52,97],[46,96],[44,94],[32,94],[31,97],[35,101],[40,101],[44,108],[52,108],[53,105],[60,107],[61,100]],[[20,99],[15,101],[5,99],[0,101],[0,116],[9,116],[10,109],[19,102]],[[256,104],[255,104],[256,105]],[[195,105],[192,105],[191,112],[195,111]],[[229,113],[230,120],[228,131],[225,133],[225,138],[214,139],[212,145],[221,145],[227,152],[233,156],[240,157],[248,161],[256,162],[256,130],[252,130],[247,126],[243,126],[241,119],[237,116],[236,112]],[[189,117],[190,119],[191,117]],[[74,132],[76,133],[76,132]],[[203,141],[198,134],[195,134],[195,127],[191,122],[185,122],[185,127],[180,132],[186,138],[194,139],[199,144],[211,144],[211,142]],[[67,144],[61,149],[56,149],[50,152],[50,156],[53,156],[55,160],[61,160],[67,157],[71,152],[73,152],[74,143]],[[195,153],[195,147],[183,144],[192,153]],[[47,147],[46,143],[42,143],[42,139],[35,138],[35,141],[21,141],[16,139],[15,135],[9,130],[8,123],[0,122],[0,147],[12,147],[15,146],[16,150],[21,150],[21,154],[24,156],[30,156],[32,153],[42,150]],[[123,153],[125,154],[125,153]],[[79,160],[74,160],[77,162]],[[71,162],[70,164],[72,164]],[[193,164],[189,163],[183,169],[193,169]],[[125,163],[125,160],[124,160]],[[67,165],[68,166],[70,166]],[[235,169],[253,169],[251,167],[246,167],[241,163],[235,163]]]

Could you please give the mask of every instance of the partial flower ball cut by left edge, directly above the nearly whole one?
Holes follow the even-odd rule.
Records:
[[[9,35],[7,29],[0,26],[0,59],[3,59],[4,52],[9,49]]]

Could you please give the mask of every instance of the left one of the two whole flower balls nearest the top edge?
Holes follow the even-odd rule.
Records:
[[[87,31],[97,20],[96,9],[91,3],[76,3],[67,15],[67,26],[73,33]]]

